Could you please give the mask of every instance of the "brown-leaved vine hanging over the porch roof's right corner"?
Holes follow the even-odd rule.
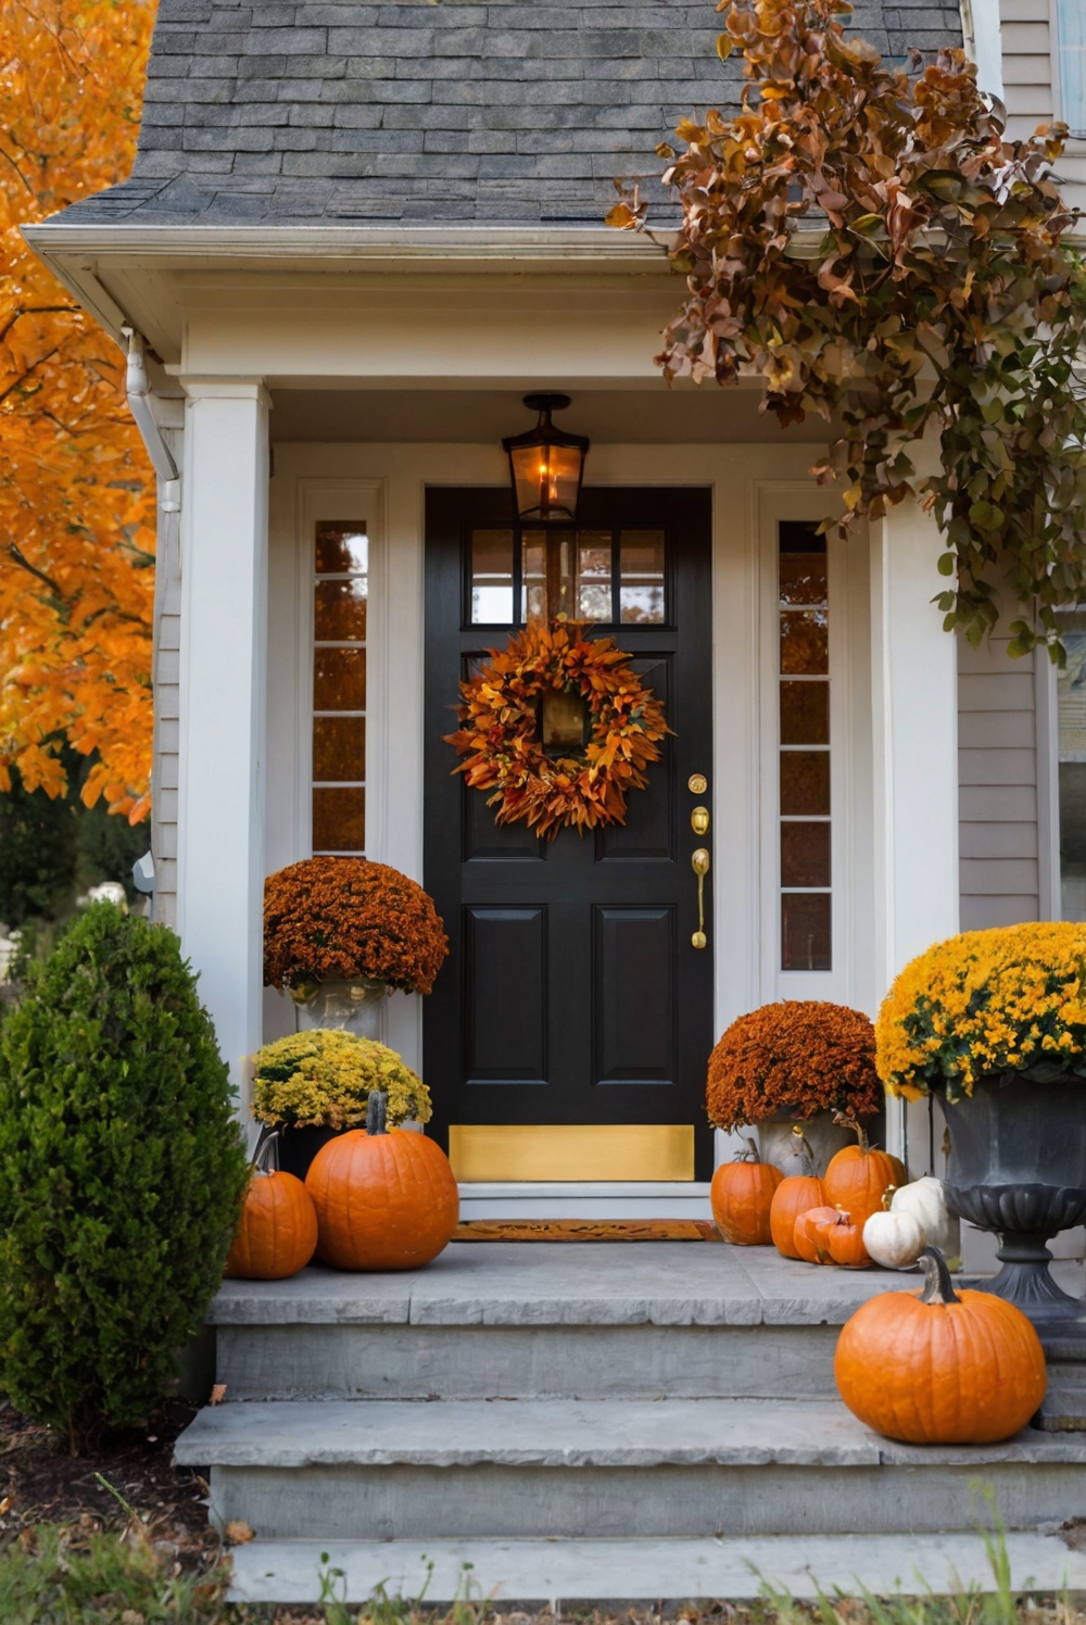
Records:
[[[1086,275],[1052,174],[1066,127],[1005,140],[964,52],[889,65],[845,34],[842,0],[725,8],[741,110],[658,148],[688,288],[658,364],[668,380],[761,372],[782,427],[836,419],[813,473],[844,478],[845,523],[919,496],[946,541],[946,629],[979,644],[1005,582],[1023,611],[1011,653],[1062,658],[1057,611],[1086,601]],[[644,229],[637,193],[608,223]],[[925,478],[927,432],[941,466]]]

